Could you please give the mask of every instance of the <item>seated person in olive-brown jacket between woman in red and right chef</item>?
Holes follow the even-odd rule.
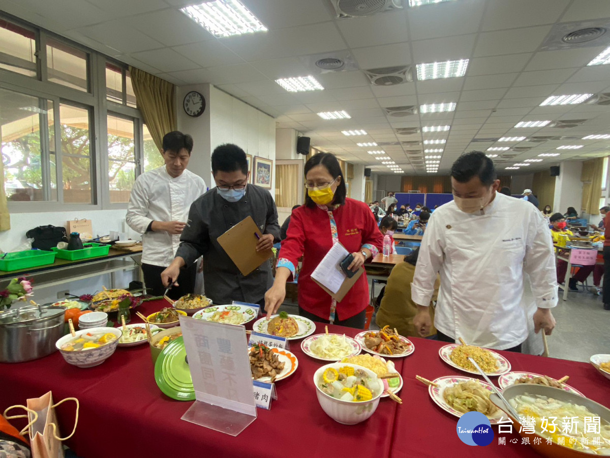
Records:
[[[375,316],[375,322],[380,328],[388,325],[391,329],[396,328],[400,335],[422,337],[413,324],[413,318],[417,314],[417,304],[411,299],[411,283],[415,275],[418,255],[419,248],[410,255],[404,256],[403,263],[398,263],[393,267],[384,288],[381,305]],[[431,322],[434,322],[433,301],[437,300],[439,287],[440,279],[437,276],[428,308]],[[433,335],[436,335],[436,328],[431,325],[428,333],[423,337]]]

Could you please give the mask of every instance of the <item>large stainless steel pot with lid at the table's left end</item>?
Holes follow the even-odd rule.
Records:
[[[26,305],[0,312],[0,363],[21,363],[50,355],[63,335],[65,308]]]

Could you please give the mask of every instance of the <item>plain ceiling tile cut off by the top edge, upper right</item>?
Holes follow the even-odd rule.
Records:
[[[553,24],[570,0],[488,0],[483,16],[484,31]]]

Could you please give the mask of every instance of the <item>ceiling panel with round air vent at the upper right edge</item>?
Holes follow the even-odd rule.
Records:
[[[554,24],[539,51],[608,46],[609,29],[608,18]]]

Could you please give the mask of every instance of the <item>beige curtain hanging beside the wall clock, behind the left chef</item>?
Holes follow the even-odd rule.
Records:
[[[129,73],[138,110],[142,113],[152,140],[160,151],[163,136],[178,129],[174,103],[175,86],[139,68],[130,66]]]

